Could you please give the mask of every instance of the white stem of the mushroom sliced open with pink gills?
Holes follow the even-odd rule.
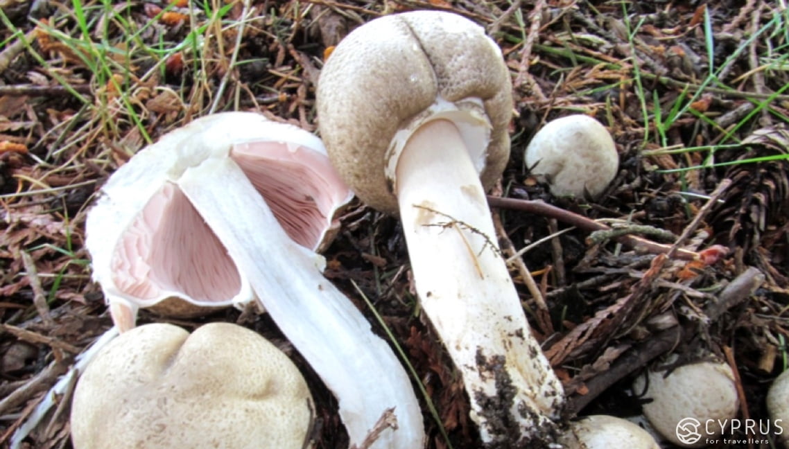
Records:
[[[186,170],[178,185],[282,333],[334,392],[351,445],[360,445],[394,408],[398,429],[385,430],[371,447],[421,448],[422,415],[405,369],[361,312],[323,277],[320,256],[287,237],[241,168],[230,159],[207,159]],[[227,185],[233,185],[232,194]]]

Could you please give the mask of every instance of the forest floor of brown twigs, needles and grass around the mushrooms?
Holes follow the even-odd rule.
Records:
[[[675,354],[675,365],[731,365],[739,416],[766,419],[766,391],[789,364],[783,0],[0,0],[0,9],[0,445],[111,326],[83,246],[110,174],[212,112],[256,110],[316,131],[327,48],[413,9],[481,24],[510,69],[511,156],[492,195],[514,201],[491,200],[492,213],[505,253],[539,242],[510,272],[568,413],[638,415],[634,376]],[[541,125],[573,113],[606,125],[620,155],[595,201],[552,196],[523,160]],[[647,232],[656,245],[593,234],[601,225]],[[357,201],[324,255],[327,277],[413,365],[428,447],[479,447],[458,373],[416,305],[398,220]],[[162,320],[140,312],[140,324]],[[267,316],[229,309],[167,321],[240,322],[277,342],[316,399],[316,447],[346,447],[334,398]],[[59,400],[23,447],[71,447],[69,397]]]

